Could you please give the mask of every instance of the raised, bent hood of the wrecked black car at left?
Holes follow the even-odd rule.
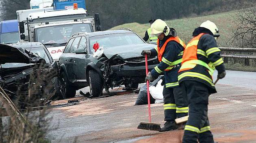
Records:
[[[45,62],[45,60],[28,50],[7,44],[0,44],[0,64],[41,62]]]

